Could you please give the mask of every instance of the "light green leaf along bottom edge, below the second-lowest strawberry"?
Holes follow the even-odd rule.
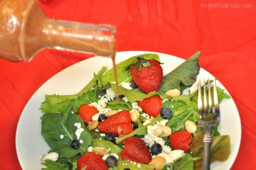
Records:
[[[109,168],[109,170],[124,170],[126,168],[130,170],[154,170],[154,165],[148,165],[143,163],[139,163],[139,164],[141,165],[141,168],[139,168],[137,164],[134,165],[133,163],[124,161],[122,158],[119,158],[117,167]]]

